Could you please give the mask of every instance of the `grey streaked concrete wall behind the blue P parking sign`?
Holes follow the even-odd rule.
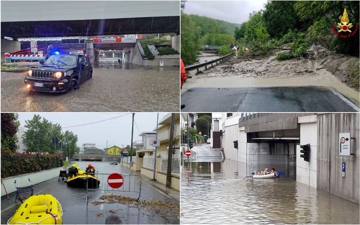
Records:
[[[317,188],[359,204],[359,114],[318,115]],[[351,153],[339,156],[339,132],[350,132]],[[312,153],[312,152],[311,152]],[[342,177],[342,162],[346,173]]]

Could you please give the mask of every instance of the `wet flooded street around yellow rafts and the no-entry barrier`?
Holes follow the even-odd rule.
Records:
[[[85,169],[89,164],[87,161],[75,162],[80,169]],[[130,171],[126,166],[109,165],[109,162],[90,162],[99,173],[121,173],[121,174],[139,174]],[[98,175],[100,180],[102,179]],[[141,183],[141,200],[146,202],[163,201],[172,205],[179,206],[176,199],[169,197],[162,190],[154,187],[147,180],[149,178],[142,176]],[[131,178],[131,181],[133,178]],[[34,180],[36,183],[36,181]],[[100,181],[102,182],[102,180]],[[106,183],[106,179],[104,181]],[[129,185],[126,176],[124,176],[124,185]],[[102,183],[100,183],[100,187]],[[136,183],[136,188],[138,182]],[[131,184],[131,188],[133,184]],[[121,188],[120,188],[121,189]],[[86,188],[71,188],[63,181],[58,182],[58,178],[53,178],[40,185],[35,185],[35,194],[51,194],[58,199],[62,205],[63,224],[179,224],[179,211],[164,209],[162,212],[158,210],[148,210],[147,207],[134,207],[134,205],[123,205],[120,203],[101,204],[94,206],[92,202],[102,201],[99,197],[104,195],[122,195],[131,198],[138,198],[139,193],[116,192],[96,190],[89,193],[89,203],[86,203]],[[20,203],[15,203],[16,192],[9,194],[10,199],[6,196],[1,197],[1,224],[6,222],[13,216]],[[110,212],[110,210],[112,210]],[[103,216],[97,216],[97,213],[103,213]]]

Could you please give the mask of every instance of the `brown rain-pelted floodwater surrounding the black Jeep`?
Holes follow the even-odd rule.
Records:
[[[2,112],[179,111],[179,66],[140,66],[102,61],[93,78],[65,94],[30,92],[26,72],[1,72]],[[161,102],[161,104],[159,104]]]

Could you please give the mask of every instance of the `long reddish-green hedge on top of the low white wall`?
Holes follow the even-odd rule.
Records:
[[[55,156],[1,151],[1,178],[49,170],[63,165],[63,158],[59,154]]]

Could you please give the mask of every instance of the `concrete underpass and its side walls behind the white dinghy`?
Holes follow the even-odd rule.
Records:
[[[358,113],[257,113],[240,116],[237,129],[225,127],[225,157],[243,162],[250,173],[257,165],[292,167],[288,175],[296,174],[297,182],[359,203]],[[346,156],[340,153],[344,132],[351,137]],[[238,150],[229,147],[235,140]],[[310,144],[309,162],[300,157],[302,144]]]

